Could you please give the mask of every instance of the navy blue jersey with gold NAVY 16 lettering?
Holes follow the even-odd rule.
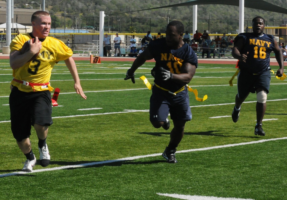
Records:
[[[261,74],[270,70],[270,52],[274,50],[272,35],[257,36],[253,33],[241,33],[234,39],[234,45],[240,38],[244,39],[244,47],[240,54],[247,54],[246,62],[239,62],[239,69],[247,70],[252,74]]]

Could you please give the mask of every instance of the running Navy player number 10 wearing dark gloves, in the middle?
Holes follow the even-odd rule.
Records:
[[[177,163],[176,147],[184,134],[185,123],[191,120],[188,84],[197,68],[197,56],[191,47],[183,42],[184,26],[180,21],[171,21],[166,27],[166,37],[151,41],[149,46],[133,62],[126,78],[135,83],[134,72],[146,60],[154,58],[152,69],[154,86],[150,97],[150,122],[154,128],[168,130],[170,122],[174,128],[170,133],[170,142],[162,156],[169,163]]]

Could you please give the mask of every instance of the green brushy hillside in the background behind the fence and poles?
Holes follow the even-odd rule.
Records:
[[[266,0],[274,5],[284,5],[285,0]],[[42,1],[37,1],[39,4]],[[192,31],[193,6],[171,7],[165,9],[154,9],[137,11],[172,5],[186,1],[166,0],[166,1],[127,1],[127,0],[50,0],[45,1],[45,9],[49,11],[54,28],[98,27],[100,11],[104,11],[105,26],[119,32],[142,33],[146,30],[152,32],[164,32],[169,20],[179,19],[183,21],[186,29]],[[222,1],[224,2],[224,1]],[[26,0],[14,0],[15,7],[27,8]],[[38,8],[36,3],[28,2],[34,8]],[[127,13],[125,13],[127,12]],[[265,18],[268,26],[280,26],[286,23],[287,17],[281,13],[267,12],[258,9],[245,8],[245,26],[251,26],[253,17],[260,15]],[[109,17],[108,17],[109,16]],[[198,30],[210,30],[210,33],[232,32],[238,29],[239,7],[230,5],[198,5],[197,19]]]

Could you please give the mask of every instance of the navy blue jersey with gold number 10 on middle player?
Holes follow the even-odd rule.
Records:
[[[163,67],[173,74],[180,74],[181,66],[184,63],[190,63],[197,67],[197,55],[186,43],[179,49],[170,49],[166,44],[166,38],[159,38],[150,42],[148,48],[156,61],[154,67],[156,74],[158,74],[159,67]],[[184,86],[171,80],[163,81],[157,76],[155,76],[154,83],[171,92],[176,92]]]

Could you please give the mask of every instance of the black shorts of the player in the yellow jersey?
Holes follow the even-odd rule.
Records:
[[[14,138],[20,142],[31,135],[34,123],[50,126],[52,121],[51,93],[22,92],[13,87],[9,96],[11,130]]]

